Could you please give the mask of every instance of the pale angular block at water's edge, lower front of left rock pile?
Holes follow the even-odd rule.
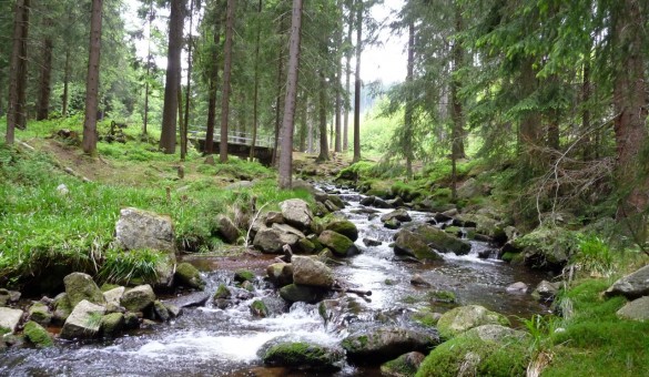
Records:
[[[61,338],[93,338],[99,333],[101,318],[104,314],[105,308],[103,306],[92,304],[85,299],[82,300],[74,306],[72,314],[65,319],[65,324],[61,328]]]

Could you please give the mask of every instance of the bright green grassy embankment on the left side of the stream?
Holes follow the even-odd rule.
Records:
[[[109,124],[100,124],[100,134]],[[305,191],[277,190],[275,172],[258,163],[231,157],[225,164],[209,165],[194,150],[182,163],[180,179],[179,155],[156,152],[136,129],[124,130],[125,144],[100,142],[99,159],[84,156],[75,139],[52,137],[61,129],[81,134],[81,128],[79,118],[31,122],[17,135],[36,151],[0,144],[0,286],[19,287],[58,269],[85,271],[112,281],[146,275],[155,253],[123,253],[113,243],[122,207],[169,214],[182,252],[232,253],[217,236],[219,214],[245,222],[253,196],[257,208],[268,204],[264,210],[288,197],[310,196]],[[4,133],[2,125],[0,132]],[[240,180],[254,184],[224,188]],[[68,194],[58,192],[61,184]]]

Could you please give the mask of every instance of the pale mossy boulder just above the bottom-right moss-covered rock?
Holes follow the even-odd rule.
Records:
[[[470,328],[483,325],[509,326],[509,319],[504,315],[488,310],[479,305],[456,307],[442,315],[437,322],[439,335],[452,338]]]

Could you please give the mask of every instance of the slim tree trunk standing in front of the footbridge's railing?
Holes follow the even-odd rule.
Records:
[[[227,162],[227,121],[230,118],[230,79],[232,75],[232,39],[234,33],[234,0],[227,0],[225,18],[225,54],[223,64],[223,95],[221,98],[221,143],[219,160]]]

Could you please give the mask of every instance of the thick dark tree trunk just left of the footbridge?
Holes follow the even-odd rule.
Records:
[[[160,135],[160,149],[166,154],[175,153],[184,11],[185,0],[171,0],[171,14],[169,18],[169,48],[166,52],[166,81],[164,83],[162,133]]]

